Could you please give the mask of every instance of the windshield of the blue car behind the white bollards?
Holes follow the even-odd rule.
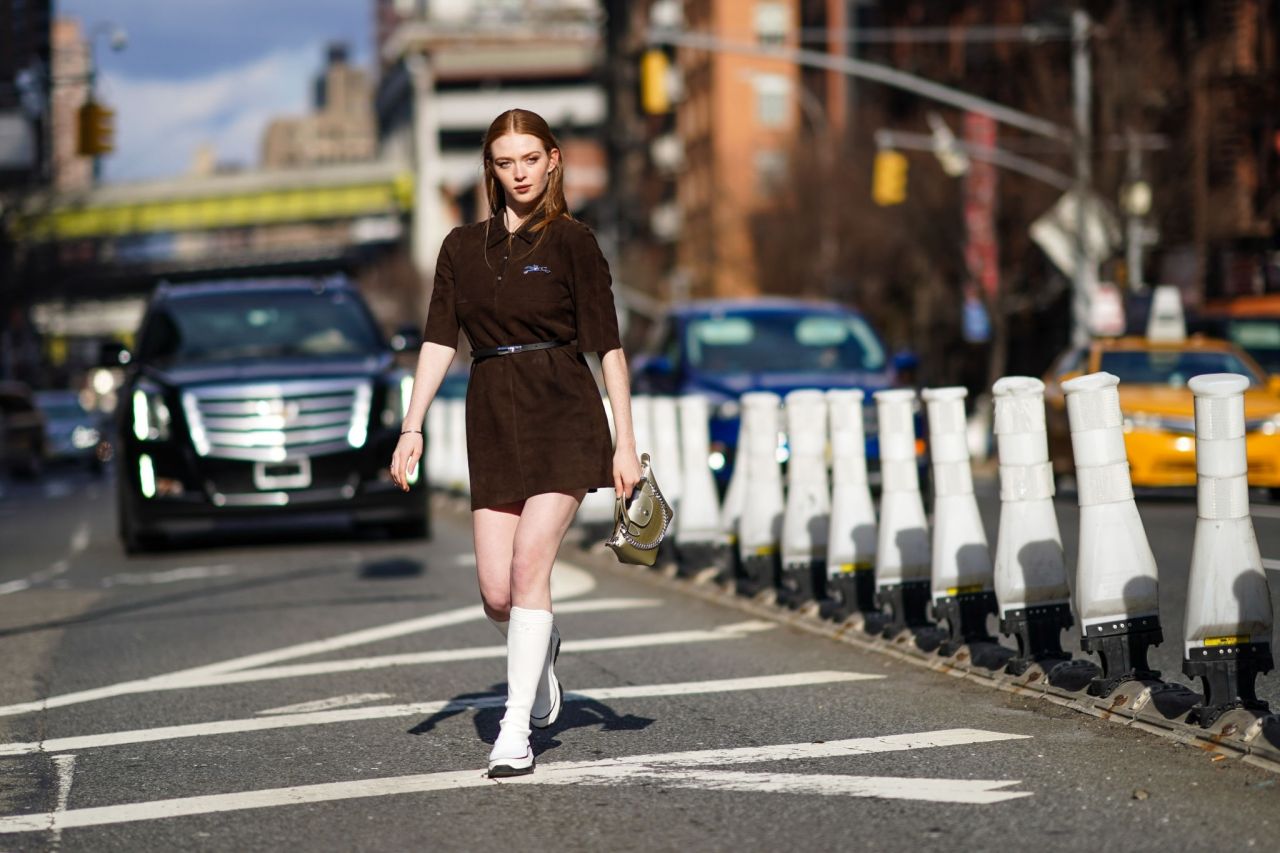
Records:
[[[689,364],[727,373],[883,370],[884,348],[867,323],[840,314],[737,314],[690,320]]]

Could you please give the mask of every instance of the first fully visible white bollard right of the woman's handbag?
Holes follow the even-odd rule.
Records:
[[[728,539],[721,529],[719,493],[709,464],[710,405],[701,394],[685,394],[678,406],[684,496],[673,537],[678,571],[690,575],[710,566],[726,567]]]

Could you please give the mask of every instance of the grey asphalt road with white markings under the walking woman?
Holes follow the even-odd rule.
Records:
[[[110,494],[61,471],[0,497],[0,850],[1275,849],[1280,833],[1272,774],[588,571],[572,548],[571,701],[535,734],[532,777],[489,781],[503,649],[463,514],[439,512],[430,543],[316,532],[127,560]],[[1140,508],[1172,676],[1194,505]],[[1276,516],[1256,517],[1270,558]],[[1070,543],[1069,501],[1060,517]],[[1280,675],[1260,686],[1280,706]]]

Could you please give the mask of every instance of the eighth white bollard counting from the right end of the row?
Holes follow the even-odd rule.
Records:
[[[742,425],[748,443],[744,446],[739,441],[737,446],[739,464],[746,461],[737,535],[737,592],[744,596],[777,587],[783,507],[782,469],[778,465],[780,405],[778,396],[768,391],[742,394]]]

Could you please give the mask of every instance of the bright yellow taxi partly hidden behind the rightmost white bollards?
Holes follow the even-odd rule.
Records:
[[[1196,410],[1187,380],[1206,373],[1249,378],[1244,394],[1249,485],[1280,498],[1280,377],[1270,379],[1234,343],[1201,336],[1183,341],[1096,339],[1064,352],[1044,377],[1053,474],[1073,474],[1062,382],[1087,373],[1120,378],[1120,410],[1135,487],[1196,485]]]

